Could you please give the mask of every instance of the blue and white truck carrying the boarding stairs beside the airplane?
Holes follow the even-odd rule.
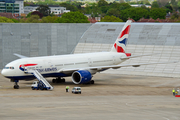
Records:
[[[34,81],[33,84],[31,85],[31,88],[32,90],[47,90],[48,88],[42,83],[42,82],[39,82],[39,81]]]

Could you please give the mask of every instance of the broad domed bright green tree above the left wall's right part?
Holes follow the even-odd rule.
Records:
[[[89,23],[88,18],[80,12],[64,13],[61,18],[55,20],[57,23]]]

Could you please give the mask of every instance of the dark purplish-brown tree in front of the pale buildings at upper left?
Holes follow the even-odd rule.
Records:
[[[43,16],[48,16],[51,13],[50,8],[47,5],[40,5],[36,10],[42,13]]]

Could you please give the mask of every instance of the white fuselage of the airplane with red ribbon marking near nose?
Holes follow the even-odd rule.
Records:
[[[26,79],[28,76],[33,76],[32,74],[24,73],[22,70],[22,68],[24,68],[23,65],[28,65],[28,68],[36,69],[44,77],[66,77],[71,76],[71,74],[59,73],[58,71],[63,69],[83,69],[86,67],[117,65],[124,61],[120,59],[121,57],[126,57],[126,54],[99,52],[23,58],[7,64],[2,70],[2,74],[10,79]],[[13,67],[13,69],[7,69],[9,67]],[[91,73],[95,74],[96,72],[97,71],[92,71]]]

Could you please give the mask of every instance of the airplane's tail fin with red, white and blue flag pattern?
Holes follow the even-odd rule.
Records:
[[[110,52],[123,52],[125,53],[126,43],[128,41],[128,35],[131,27],[131,20],[128,20],[124,25],[121,33],[119,34],[118,38],[116,39],[113,47],[111,48]]]

